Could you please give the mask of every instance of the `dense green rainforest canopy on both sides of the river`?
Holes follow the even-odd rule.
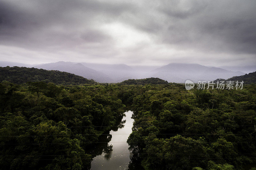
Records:
[[[64,84],[0,83],[1,169],[90,169],[109,146],[90,149],[102,136],[111,140],[105,134],[122,127],[127,107],[129,169],[256,166],[255,84],[189,91],[172,83]]]

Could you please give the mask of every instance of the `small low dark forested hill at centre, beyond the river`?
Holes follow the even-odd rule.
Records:
[[[124,80],[120,84],[122,85],[145,85],[145,84],[160,85],[160,84],[168,84],[168,82],[160,78],[143,78],[143,79]]]

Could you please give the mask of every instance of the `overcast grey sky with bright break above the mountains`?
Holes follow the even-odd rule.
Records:
[[[255,65],[255,0],[0,0],[0,60]]]

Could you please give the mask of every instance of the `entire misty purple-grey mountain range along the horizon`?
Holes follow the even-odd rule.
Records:
[[[9,62],[11,63],[11,62]],[[8,62],[0,62],[7,66]],[[13,65],[14,63],[11,63]],[[22,66],[22,63],[17,63]],[[25,65],[25,64],[24,64]],[[32,66],[31,66],[32,67]],[[184,83],[186,80],[212,81],[244,75],[241,71],[229,71],[200,64],[169,63],[157,66],[128,66],[126,64],[75,63],[59,61],[33,66],[45,70],[65,71],[100,83],[119,83],[128,79],[161,78],[168,82]]]

